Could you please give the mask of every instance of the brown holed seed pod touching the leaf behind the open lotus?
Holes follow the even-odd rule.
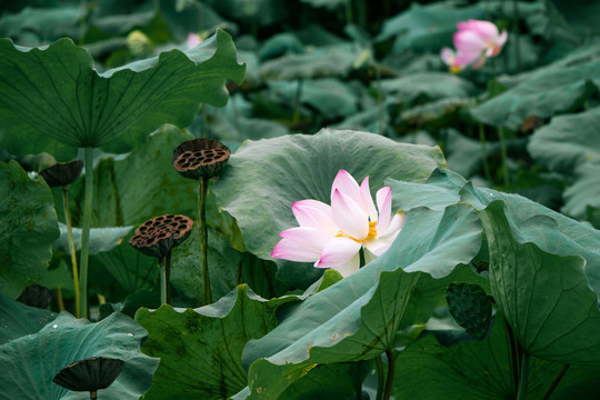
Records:
[[[221,172],[229,156],[229,148],[217,140],[193,139],[173,150],[173,167],[186,178],[209,179]]]

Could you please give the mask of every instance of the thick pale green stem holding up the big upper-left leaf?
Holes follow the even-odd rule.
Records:
[[[86,196],[83,200],[83,222],[81,232],[81,276],[79,277],[79,294],[81,316],[88,318],[88,261],[90,243],[91,212],[93,203],[93,158],[92,148],[84,148],[86,158]]]

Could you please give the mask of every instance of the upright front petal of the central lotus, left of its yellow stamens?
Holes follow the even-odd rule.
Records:
[[[338,189],[331,196],[331,214],[339,229],[354,239],[362,240],[369,234],[369,218],[349,196]]]

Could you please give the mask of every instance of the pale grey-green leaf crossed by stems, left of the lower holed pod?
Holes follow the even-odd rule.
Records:
[[[90,229],[90,254],[109,251],[119,246],[133,227],[92,228]],[[62,252],[69,252],[69,233],[67,226],[59,222],[60,238],[54,242],[54,248]],[[76,251],[81,249],[81,229],[71,228]]]

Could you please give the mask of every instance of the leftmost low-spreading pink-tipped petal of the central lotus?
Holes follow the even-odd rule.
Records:
[[[276,244],[271,257],[299,262],[319,260],[323,246],[331,239],[319,229],[306,227],[290,228],[279,236],[283,239]]]

